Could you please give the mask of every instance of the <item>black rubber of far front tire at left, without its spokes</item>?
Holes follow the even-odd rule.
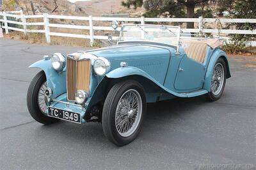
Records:
[[[38,106],[38,92],[42,84],[46,81],[44,71],[41,71],[35,75],[31,83],[29,84],[27,93],[27,105],[30,115],[39,123],[51,124],[59,121],[59,119],[51,118],[45,116],[42,111],[40,111]]]

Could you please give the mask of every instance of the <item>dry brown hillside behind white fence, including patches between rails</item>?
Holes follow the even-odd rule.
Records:
[[[26,15],[33,15],[31,0],[10,0],[10,4],[5,11],[23,10]],[[53,15],[73,15],[73,16],[101,16],[111,13],[129,13],[132,15],[140,15],[143,8],[138,10],[127,9],[122,6],[122,0],[92,0],[88,2],[70,3],[67,0],[33,0],[33,8],[36,14],[51,13]],[[56,3],[55,3],[56,2]],[[56,8],[58,6],[58,8]],[[54,10],[56,8],[56,10]],[[3,10],[0,9],[0,10]],[[52,12],[54,11],[54,12]],[[27,19],[27,22],[43,22],[42,19]],[[84,20],[67,20],[67,19],[50,19],[50,23],[55,24],[76,24],[88,26],[88,21]],[[111,22],[93,22],[93,26],[111,26]],[[44,29],[43,26],[28,26],[27,29]],[[79,35],[88,35],[88,30],[84,29],[68,29],[51,27],[51,32],[56,33],[72,33]],[[111,31],[95,31],[95,35],[106,35]],[[42,33],[29,33],[24,35],[22,32],[10,31],[10,38],[20,38],[28,40],[31,43],[45,43],[45,37]],[[52,44],[88,46],[90,40],[81,38],[68,38],[61,36],[51,36]],[[95,46],[102,45],[101,40],[95,40]]]

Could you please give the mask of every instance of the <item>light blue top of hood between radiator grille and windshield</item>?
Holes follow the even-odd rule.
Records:
[[[131,59],[132,56],[166,55],[170,54],[171,49],[168,49],[168,47],[161,47],[159,45],[120,44],[96,50],[88,50],[86,52],[89,52],[97,57],[107,58],[109,61],[117,61],[121,58]]]

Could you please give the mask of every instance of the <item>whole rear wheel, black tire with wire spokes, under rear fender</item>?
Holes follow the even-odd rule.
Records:
[[[205,95],[207,100],[216,101],[221,98],[223,90],[225,88],[227,78],[226,63],[222,58],[219,58],[213,69],[211,80],[211,91]]]

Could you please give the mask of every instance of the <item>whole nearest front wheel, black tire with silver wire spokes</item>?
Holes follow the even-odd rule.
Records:
[[[136,81],[119,82],[110,89],[102,111],[104,134],[117,146],[136,139],[147,108],[145,92]]]

